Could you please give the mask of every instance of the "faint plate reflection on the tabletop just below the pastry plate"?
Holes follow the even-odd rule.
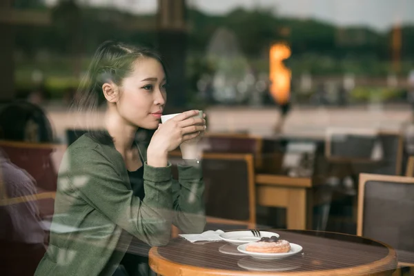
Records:
[[[240,259],[237,265],[253,271],[288,271],[302,266],[301,264],[289,264],[274,259],[253,259],[252,257]]]

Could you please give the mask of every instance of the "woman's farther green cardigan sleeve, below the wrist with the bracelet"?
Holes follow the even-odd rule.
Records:
[[[178,166],[178,172],[178,181],[172,180],[175,210],[172,224],[184,233],[201,233],[206,226],[201,168]]]

